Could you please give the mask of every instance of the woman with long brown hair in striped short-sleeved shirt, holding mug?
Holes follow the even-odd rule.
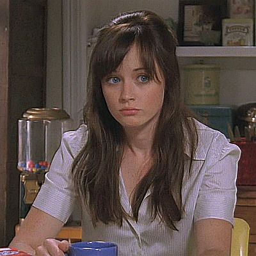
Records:
[[[86,125],[67,132],[10,246],[63,255],[51,239],[83,205],[83,240],[118,255],[229,255],[239,149],[188,118],[172,31],[155,13],[101,29],[88,76]]]

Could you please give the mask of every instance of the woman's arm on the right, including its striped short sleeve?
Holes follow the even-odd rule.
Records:
[[[222,135],[209,148],[194,216],[198,256],[230,255],[239,156],[239,148]]]

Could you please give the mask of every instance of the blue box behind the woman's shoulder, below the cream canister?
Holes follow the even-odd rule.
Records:
[[[195,112],[200,122],[222,132],[229,138],[227,124],[234,126],[234,107],[221,105],[189,105],[188,107]]]

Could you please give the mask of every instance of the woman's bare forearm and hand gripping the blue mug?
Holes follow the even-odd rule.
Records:
[[[28,252],[31,255],[40,255],[45,251],[48,251],[50,255],[63,255],[63,252],[68,250],[68,242],[49,239],[56,237],[63,224],[51,215],[31,207],[28,216],[20,226],[19,232],[10,243],[10,247]]]

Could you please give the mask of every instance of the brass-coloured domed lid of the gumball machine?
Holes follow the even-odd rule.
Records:
[[[57,120],[70,118],[68,113],[60,108],[29,108],[22,116],[31,120]]]

